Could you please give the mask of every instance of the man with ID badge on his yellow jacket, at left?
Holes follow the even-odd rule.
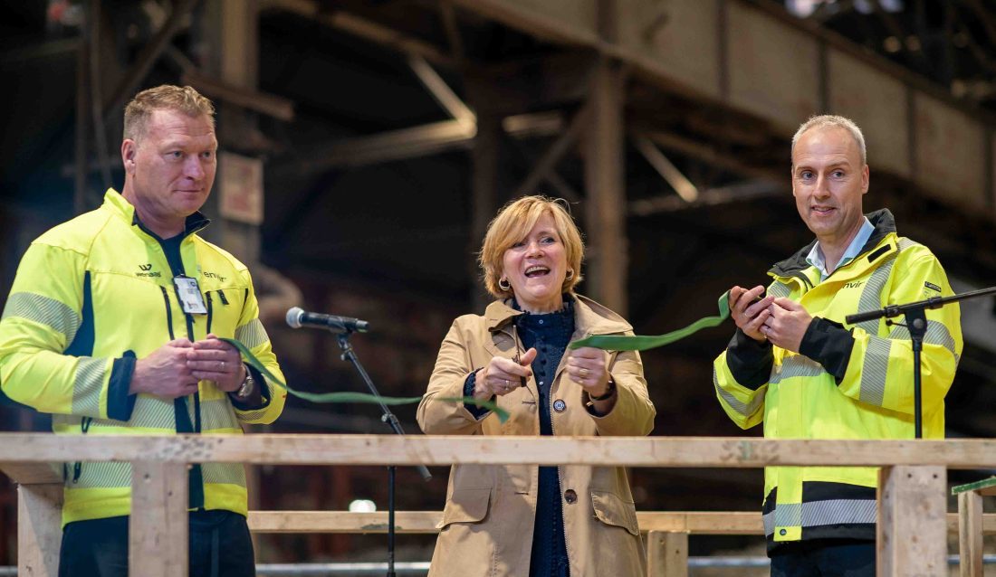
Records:
[[[281,375],[246,267],[204,241],[214,107],[190,87],[124,111],[124,188],[36,239],[0,321],[0,383],[62,435],[242,434],[284,392],[219,337]],[[131,467],[67,463],[59,575],[127,575]],[[255,574],[241,465],[189,473],[190,575]]]

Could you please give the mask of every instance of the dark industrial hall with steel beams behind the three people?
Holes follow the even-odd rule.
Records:
[[[264,219],[205,236],[254,273],[290,382],[363,390],[335,339],[289,306],[365,318],[353,338],[381,392],[421,394],[457,315],[481,311],[474,253],[507,200],[572,203],[590,256],[580,291],[660,333],[811,240],[789,181],[809,115],[866,131],[871,192],[931,247],[955,289],[996,285],[992,0],[8,0],[0,3],[0,304],[46,229],[121,188],[122,110],[189,84],[218,106],[221,150],[259,160]],[[991,437],[996,305],[965,305],[951,437]],[[738,436],[711,384],[733,326],[643,355],[653,435]],[[47,419],[0,409],[4,430]],[[397,414],[418,434],[414,407]],[[372,406],[289,399],[272,432],[386,433]],[[439,509],[447,472],[399,472],[403,509]],[[951,472],[950,481],[980,473]],[[632,471],[643,510],[755,510],[762,474]],[[386,503],[382,468],[258,468],[253,506]],[[0,564],[15,555],[0,481]],[[427,560],[430,536],[399,559]],[[692,554],[757,546],[693,538]],[[381,559],[382,537],[262,536],[259,560]]]

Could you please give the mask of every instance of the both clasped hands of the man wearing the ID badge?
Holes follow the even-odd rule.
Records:
[[[171,340],[138,359],[128,392],[175,399],[195,393],[199,381],[213,381],[220,390],[231,393],[245,378],[246,368],[238,349],[208,334],[194,342],[185,338]]]

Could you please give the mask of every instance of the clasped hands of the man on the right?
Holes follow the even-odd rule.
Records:
[[[799,352],[803,336],[813,317],[798,302],[764,295],[764,287],[730,289],[730,316],[737,328],[756,341]]]

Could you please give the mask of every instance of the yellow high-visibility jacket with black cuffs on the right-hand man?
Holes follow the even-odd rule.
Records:
[[[904,326],[885,319],[844,325],[845,316],[952,294],[926,247],[898,237],[887,210],[861,255],[820,282],[806,262],[813,245],[772,268],[768,293],[813,316],[800,353],[758,343],[739,329],[713,364],[726,414],[741,428],[764,422],[771,439],[912,439],[913,353]],[[926,311],[922,353],[923,437],[944,437],[944,396],[962,338],[957,303]],[[902,318],[894,319],[903,322]],[[876,468],[765,469],[769,549],[784,541],[874,539]]]

